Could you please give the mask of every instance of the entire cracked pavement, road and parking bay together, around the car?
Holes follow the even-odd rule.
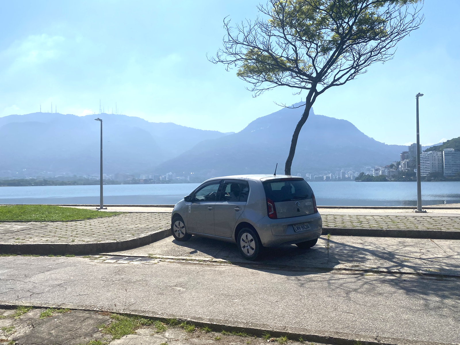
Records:
[[[219,243],[178,245],[169,237],[116,253],[164,257],[139,265],[104,256],[0,257],[0,303],[460,342],[458,241],[331,236],[327,247],[323,236],[310,250],[286,246],[255,263],[239,262],[234,245]]]

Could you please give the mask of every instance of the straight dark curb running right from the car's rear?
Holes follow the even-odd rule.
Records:
[[[400,237],[400,238],[431,238],[433,240],[460,240],[460,231],[445,231],[445,230],[323,228],[322,235],[327,235],[327,234],[331,234],[335,236]]]

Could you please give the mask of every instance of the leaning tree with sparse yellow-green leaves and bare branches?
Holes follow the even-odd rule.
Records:
[[[291,174],[299,132],[316,98],[391,59],[397,42],[423,22],[420,0],[269,0],[261,16],[230,26],[213,63],[252,84],[254,96],[277,86],[306,93],[284,172]],[[304,105],[302,104],[302,107]]]

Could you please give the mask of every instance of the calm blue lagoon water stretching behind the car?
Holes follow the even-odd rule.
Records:
[[[416,182],[310,182],[321,206],[416,206]],[[104,185],[104,204],[175,204],[199,184]],[[423,205],[460,202],[460,182],[422,182]],[[98,204],[99,186],[0,187],[0,204]]]

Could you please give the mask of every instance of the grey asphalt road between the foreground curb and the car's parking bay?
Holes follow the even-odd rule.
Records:
[[[459,343],[460,280],[87,258],[0,257],[0,303]]]

